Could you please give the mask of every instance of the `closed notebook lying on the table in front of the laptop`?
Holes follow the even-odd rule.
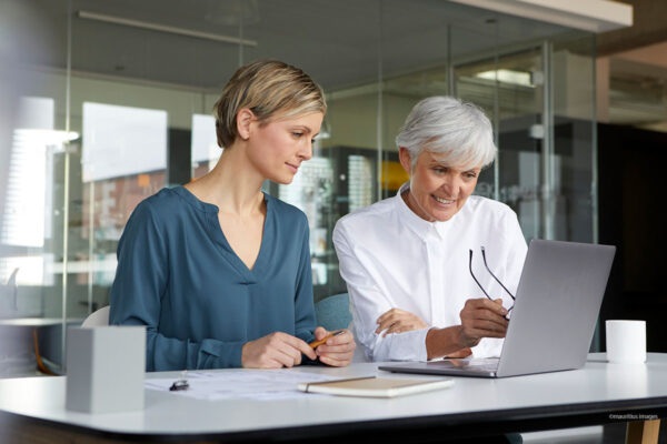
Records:
[[[451,386],[454,381],[447,379],[389,379],[389,377],[354,377],[350,380],[302,383],[301,392],[325,393],[340,396],[396,397],[415,393],[431,392]]]

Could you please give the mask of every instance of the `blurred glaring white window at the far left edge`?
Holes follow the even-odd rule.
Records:
[[[42,314],[42,285],[52,285],[53,153],[66,134],[53,130],[54,100],[26,97],[13,130],[3,192],[0,245],[0,319]],[[20,291],[19,291],[20,287]],[[8,304],[8,294],[11,303]]]

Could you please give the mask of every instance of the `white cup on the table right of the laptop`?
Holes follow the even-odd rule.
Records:
[[[607,361],[646,362],[646,321],[606,321]]]

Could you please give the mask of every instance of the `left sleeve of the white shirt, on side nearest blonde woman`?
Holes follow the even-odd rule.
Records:
[[[340,275],[350,295],[355,333],[366,357],[370,361],[426,361],[428,329],[399,334],[376,333],[377,319],[396,307],[391,295],[384,292],[356,254],[346,228],[339,222],[334,230],[334,245]]]

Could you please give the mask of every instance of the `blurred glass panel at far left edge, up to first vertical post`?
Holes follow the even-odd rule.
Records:
[[[68,9],[40,3],[0,2],[0,376],[34,374],[36,327],[60,362],[67,321]]]

